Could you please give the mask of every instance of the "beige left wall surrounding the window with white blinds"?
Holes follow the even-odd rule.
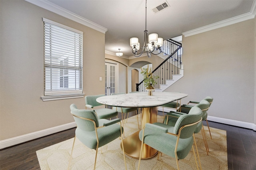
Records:
[[[74,103],[85,108],[84,98],[48,102],[41,99],[44,95],[42,18],[84,32],[85,95],[104,94],[104,81],[99,81],[100,76],[104,77],[104,33],[26,1],[1,1],[0,12],[0,140],[74,122],[69,106]]]

